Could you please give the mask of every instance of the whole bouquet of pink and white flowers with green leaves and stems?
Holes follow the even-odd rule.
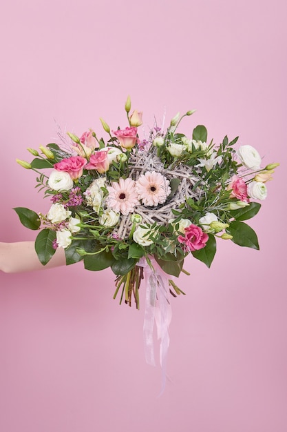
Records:
[[[100,119],[107,139],[94,130],[81,137],[67,133],[68,146],[28,148],[31,163],[18,163],[37,173],[36,188],[52,205],[47,215],[15,208],[21,223],[40,230],[35,249],[43,265],[56,248],[65,249],[67,264],[83,260],[90,271],[110,267],[116,275],[120,302],[139,307],[143,273],[140,259],[156,259],[162,270],[178,277],[190,253],[210,267],[217,239],[259,249],[246,220],[267,196],[266,181],[279,164],[261,168],[253,146],[224,137],[216,146],[205,126],[191,136],[179,132],[187,111],[171,119],[167,129],[151,128],[140,138],[142,112],[125,103],[128,126],[111,130]],[[131,113],[130,113],[131,112]],[[42,172],[43,170],[43,172]],[[169,280],[173,295],[180,288]]]

